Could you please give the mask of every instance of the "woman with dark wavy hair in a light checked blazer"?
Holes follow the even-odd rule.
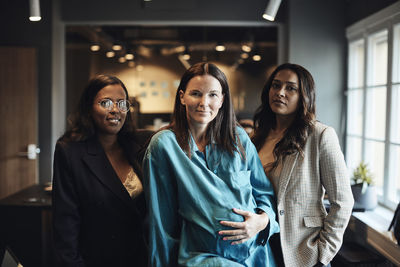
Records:
[[[277,195],[281,232],[275,248],[283,251],[281,265],[329,266],[354,200],[337,135],[315,120],[311,74],[295,64],[278,66],[254,121],[252,140]]]

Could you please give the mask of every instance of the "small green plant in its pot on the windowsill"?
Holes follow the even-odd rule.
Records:
[[[378,205],[374,177],[363,161],[353,172],[351,191],[355,208],[373,210]]]

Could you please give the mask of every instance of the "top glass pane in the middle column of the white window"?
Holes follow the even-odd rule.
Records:
[[[387,30],[369,38],[368,85],[386,84],[387,78]]]

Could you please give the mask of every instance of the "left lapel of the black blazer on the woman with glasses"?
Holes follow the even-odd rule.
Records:
[[[135,209],[132,198],[125,190],[124,185],[120,182],[101,144],[95,138],[91,138],[88,140],[87,145],[87,155],[83,157],[83,161],[104,186],[120,198],[127,206]]]

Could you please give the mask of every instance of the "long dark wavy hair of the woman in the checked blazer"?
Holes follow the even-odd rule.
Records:
[[[278,66],[268,78],[261,95],[261,106],[254,115],[254,134],[252,141],[259,151],[264,145],[271,129],[276,126],[276,116],[269,105],[269,90],[275,76],[281,70],[291,70],[299,79],[299,105],[293,123],[286,129],[283,138],[275,145],[275,161],[268,167],[275,169],[285,156],[303,149],[308,136],[314,129],[315,121],[315,88],[314,79],[304,67],[285,63]]]

